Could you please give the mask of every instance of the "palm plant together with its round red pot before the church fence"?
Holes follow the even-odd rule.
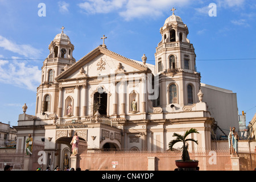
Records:
[[[181,151],[182,151],[181,160],[175,160],[176,166],[179,168],[196,168],[198,166],[198,160],[190,160],[190,157],[188,154],[188,141],[192,141],[198,144],[197,140],[193,138],[187,138],[188,135],[192,133],[199,133],[199,132],[196,129],[192,128],[190,130],[185,131],[184,135],[174,133],[172,137],[176,137],[176,139],[171,140],[171,142],[169,142],[170,150],[173,150],[174,144],[178,142],[183,143],[183,146],[181,147]]]

